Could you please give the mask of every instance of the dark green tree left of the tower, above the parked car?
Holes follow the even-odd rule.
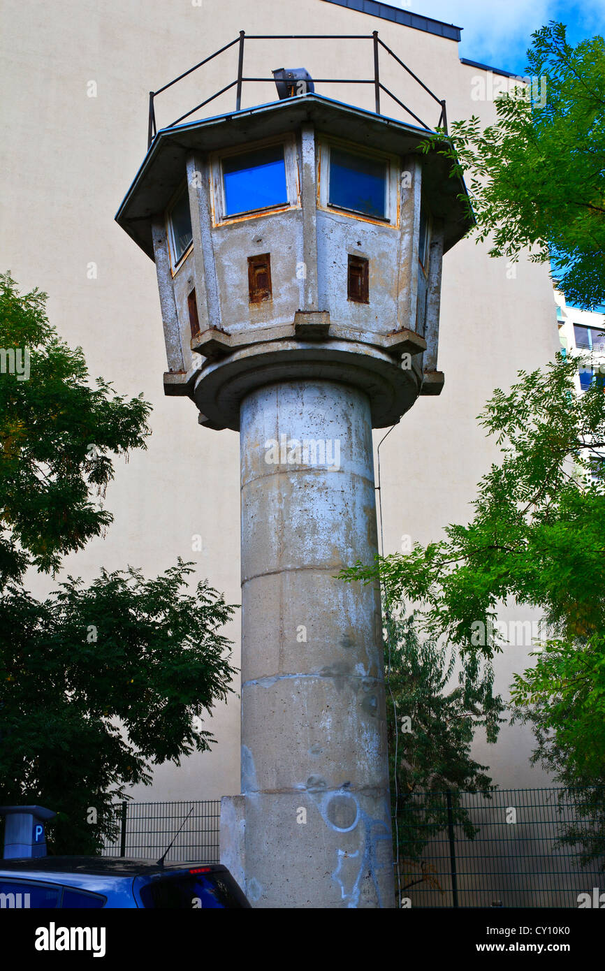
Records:
[[[55,574],[103,533],[113,457],[149,434],[147,402],[90,386],[45,306],[0,276],[0,803],[49,806],[51,849],[94,853],[126,787],[214,741],[203,718],[231,690],[219,628],[234,608],[207,582],[190,589],[182,560],[154,580],[69,577],[44,600],[23,586],[28,567]]]

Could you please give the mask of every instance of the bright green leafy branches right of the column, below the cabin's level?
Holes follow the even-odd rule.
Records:
[[[420,631],[474,664],[506,646],[498,607],[541,609],[552,636],[516,679],[517,714],[539,727],[535,757],[565,786],[594,787],[605,783],[605,381],[597,374],[580,395],[577,369],[559,354],[494,392],[480,420],[502,460],[469,523],[343,576],[380,579],[389,602],[419,605]]]

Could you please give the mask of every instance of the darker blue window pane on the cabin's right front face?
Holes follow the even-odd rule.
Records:
[[[384,218],[386,189],[386,162],[351,151],[330,150],[330,205]]]

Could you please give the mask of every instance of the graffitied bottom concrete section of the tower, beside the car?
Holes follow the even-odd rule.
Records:
[[[384,792],[223,796],[220,862],[254,908],[395,906]]]

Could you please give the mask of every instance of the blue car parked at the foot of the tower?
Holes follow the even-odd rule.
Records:
[[[250,907],[225,866],[116,856],[0,859],[0,909]]]

